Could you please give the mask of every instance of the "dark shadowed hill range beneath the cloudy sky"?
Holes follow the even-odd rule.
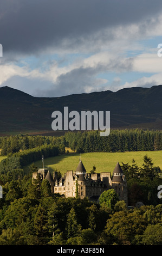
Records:
[[[51,113],[110,111],[111,128],[162,129],[162,85],[125,88],[118,92],[83,93],[62,97],[33,97],[8,86],[0,88],[0,133],[52,131]]]

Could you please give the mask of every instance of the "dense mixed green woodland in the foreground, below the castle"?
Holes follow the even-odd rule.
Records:
[[[31,173],[3,185],[0,245],[162,245],[161,199],[128,209],[113,189],[99,203],[66,198]]]

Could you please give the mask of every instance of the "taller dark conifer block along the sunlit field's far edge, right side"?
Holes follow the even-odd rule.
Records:
[[[162,150],[162,132],[153,130],[111,130],[101,137],[99,131],[67,132],[68,146],[79,153]]]

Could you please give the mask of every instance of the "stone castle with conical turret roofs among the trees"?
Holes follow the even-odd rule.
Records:
[[[49,181],[53,193],[59,193],[65,197],[76,197],[77,193],[81,199],[88,197],[90,201],[98,202],[103,191],[114,188],[119,199],[124,200],[126,205],[128,203],[127,182],[119,163],[116,163],[112,178],[111,172],[87,173],[81,159],[75,172],[67,170],[61,178],[58,178],[57,172],[52,176],[44,167],[33,173],[33,179],[36,179],[37,175],[41,175],[42,180]]]

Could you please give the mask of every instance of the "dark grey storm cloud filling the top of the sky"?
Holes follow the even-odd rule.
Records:
[[[4,52],[74,47],[102,29],[149,21],[160,6],[160,0],[1,0],[0,40]]]

